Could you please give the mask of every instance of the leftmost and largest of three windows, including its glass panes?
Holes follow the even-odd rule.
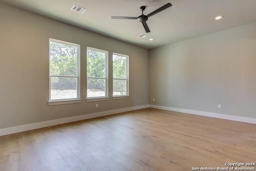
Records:
[[[80,98],[80,46],[49,40],[50,101]]]

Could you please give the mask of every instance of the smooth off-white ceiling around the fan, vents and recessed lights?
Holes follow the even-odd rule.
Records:
[[[124,42],[156,48],[235,26],[256,22],[256,0],[0,0],[31,12],[116,38]],[[170,2],[173,6],[150,17],[146,34],[136,20],[117,20],[111,16],[139,16],[140,6],[148,14]],[[77,4],[84,14],[70,8]],[[223,15],[221,20],[214,20]],[[139,34],[148,37],[139,38]],[[149,41],[153,38],[153,41]]]

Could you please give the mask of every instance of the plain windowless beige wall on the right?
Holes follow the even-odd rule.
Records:
[[[256,23],[152,49],[149,75],[150,104],[256,118]]]

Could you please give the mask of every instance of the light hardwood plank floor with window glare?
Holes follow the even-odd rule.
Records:
[[[4,135],[1,171],[190,171],[256,162],[256,124],[140,109]]]

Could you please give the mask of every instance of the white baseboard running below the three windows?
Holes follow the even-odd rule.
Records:
[[[9,128],[0,129],[0,136],[11,134],[11,133],[22,132],[22,131],[28,131],[28,130],[32,130],[32,129],[38,129],[38,128],[42,128],[42,127],[48,127],[48,126],[52,126],[52,125],[58,125],[61,123],[68,123],[68,122],[79,121],[79,120],[83,120],[83,119],[90,119],[90,118],[94,118],[94,117],[112,115],[115,113],[121,113],[121,112],[125,112],[125,111],[143,109],[143,108],[147,108],[147,107],[149,107],[149,105],[140,105],[140,106],[127,107],[127,108],[122,108],[122,109],[102,111],[102,112],[98,112],[98,113],[91,113],[91,114],[86,114],[86,115],[66,117],[66,118],[55,119],[55,120],[51,120],[51,121],[31,123],[31,124],[20,125],[20,126],[16,126],[16,127],[9,127]]]

